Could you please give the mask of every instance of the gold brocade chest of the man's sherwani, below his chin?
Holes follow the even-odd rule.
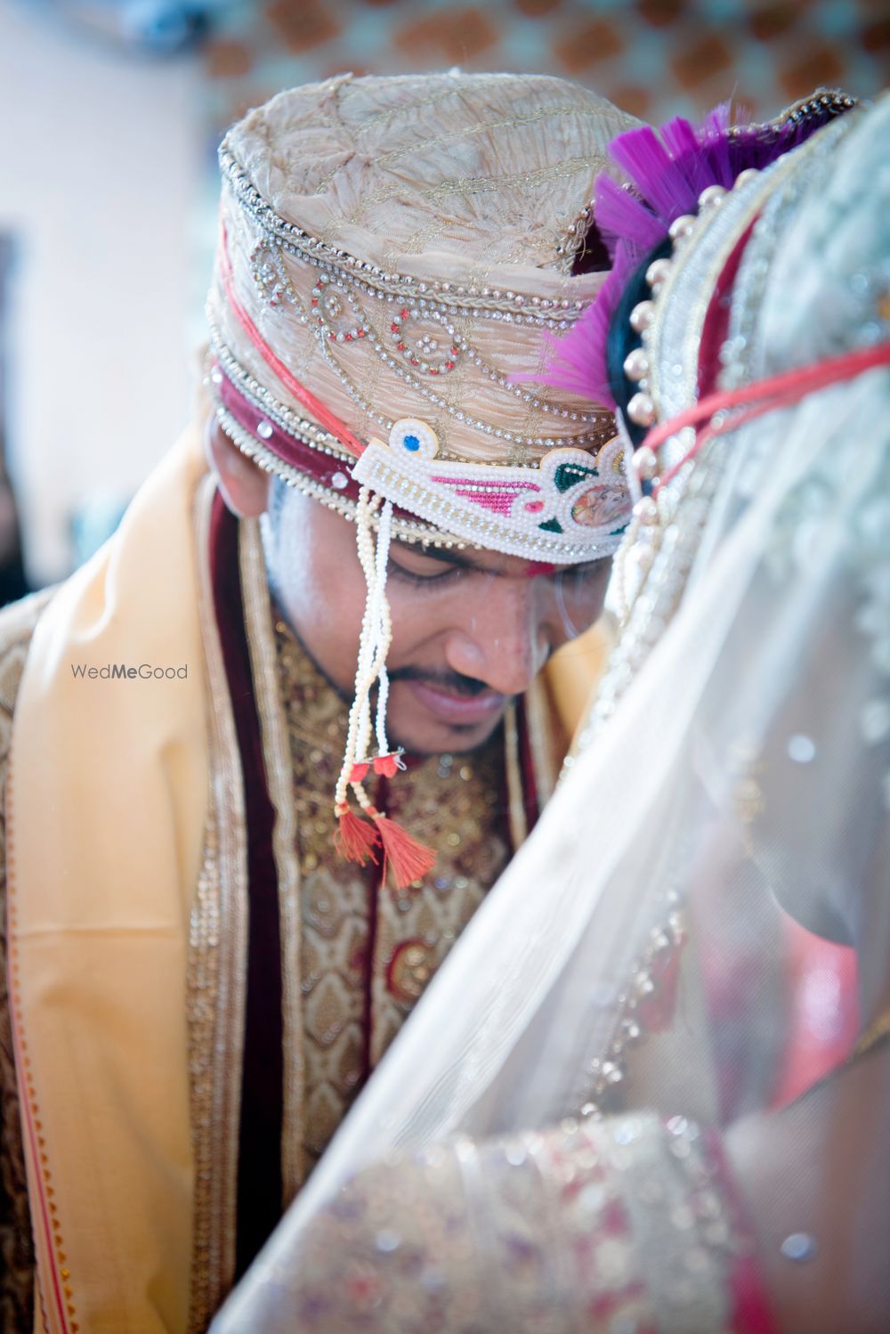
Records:
[[[333,852],[345,704],[282,620],[276,636],[301,870],[310,1169],[508,860],[504,736],[498,728],[481,751],[425,759],[381,787],[386,811],[438,852],[426,880],[381,888],[374,867]]]

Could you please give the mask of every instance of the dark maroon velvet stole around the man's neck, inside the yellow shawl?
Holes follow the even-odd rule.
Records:
[[[219,492],[213,500],[209,540],[213,604],[241,760],[246,826],[248,975],[238,1126],[234,1275],[237,1281],[261,1250],[282,1213],[281,923],[277,870],[272,850],[274,810],[266,783],[244,626],[238,523]],[[525,815],[530,831],[538,818],[538,803],[521,700],[517,722]],[[508,826],[506,819],[504,824]],[[370,867],[370,871],[373,874],[374,868]],[[372,888],[376,891],[376,884]],[[366,1022],[370,1030],[370,1014]]]

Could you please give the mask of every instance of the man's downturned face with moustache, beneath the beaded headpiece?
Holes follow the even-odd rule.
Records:
[[[273,594],[333,686],[352,696],[365,579],[352,523],[276,484],[264,522]],[[609,560],[556,567],[466,547],[393,542],[388,728],[414,754],[468,751],[550,654],[598,616]]]

